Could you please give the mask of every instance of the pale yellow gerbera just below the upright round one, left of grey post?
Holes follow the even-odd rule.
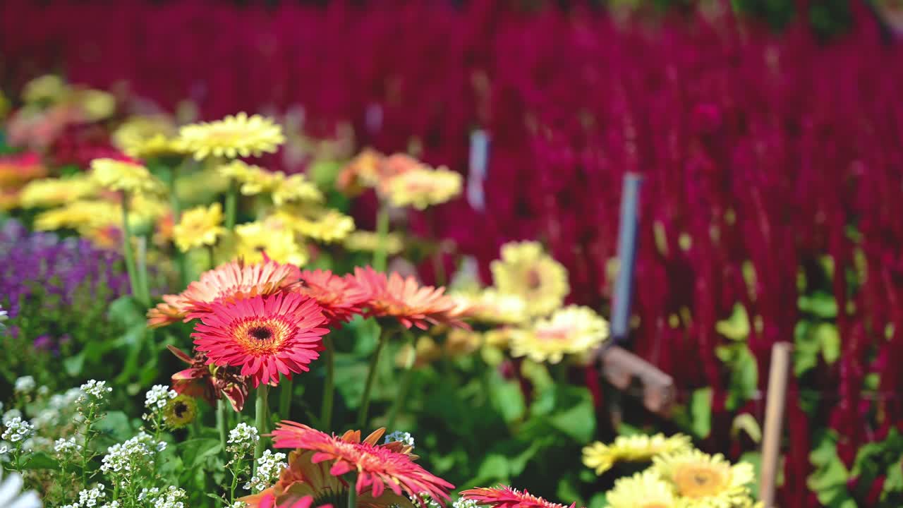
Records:
[[[590,307],[567,306],[530,328],[511,334],[511,354],[535,362],[561,362],[565,354],[590,353],[609,336],[609,323]]]

